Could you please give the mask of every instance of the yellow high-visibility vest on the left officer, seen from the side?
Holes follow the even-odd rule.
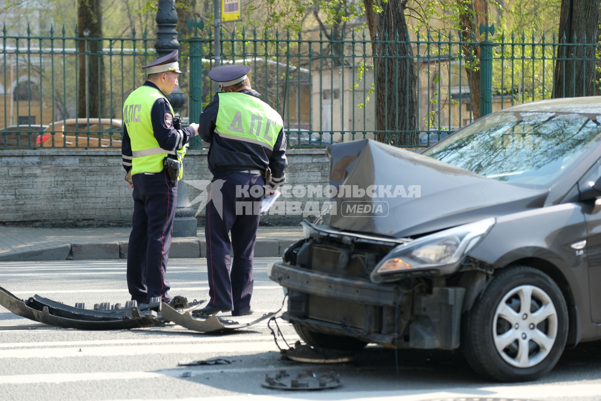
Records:
[[[154,102],[165,99],[171,114],[174,115],[171,103],[160,91],[153,87],[142,86],[133,91],[123,105],[123,123],[127,127],[132,145],[132,176],[139,173],[159,173],[163,170],[163,158],[175,155],[182,161],[186,147],[182,146],[173,152],[160,147],[154,138],[150,112]],[[179,179],[182,179],[183,168]]]

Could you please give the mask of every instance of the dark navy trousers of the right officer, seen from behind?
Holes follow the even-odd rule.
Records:
[[[211,200],[205,214],[210,296],[208,306],[231,309],[234,314],[240,314],[251,308],[252,257],[263,200],[263,188],[260,195],[254,197],[250,189],[255,185],[263,187],[264,180],[259,174],[231,173],[214,177],[212,182],[218,179],[225,181],[221,187],[221,196],[213,194],[217,189],[211,190]],[[236,188],[246,188],[246,192],[238,191],[239,194],[236,194]],[[219,216],[215,207],[215,203],[220,201],[222,216]],[[231,243],[228,235],[230,232]],[[232,249],[233,261],[230,260]]]

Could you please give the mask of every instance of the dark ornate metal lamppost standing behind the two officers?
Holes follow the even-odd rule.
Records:
[[[159,10],[156,12],[156,49],[157,57],[168,55],[174,50],[179,50],[180,42],[177,40],[177,13],[175,12],[175,0],[159,0]],[[186,95],[180,87],[167,96],[173,110],[182,112],[186,103]],[[195,210],[186,207],[190,203],[186,184],[182,181],[177,183],[177,209],[175,209],[175,220],[173,221],[174,237],[195,237],[197,233],[197,221]]]

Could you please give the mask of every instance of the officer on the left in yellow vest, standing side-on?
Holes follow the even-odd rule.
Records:
[[[177,51],[142,70],[148,75],[147,81],[127,97],[123,106],[121,153],[134,201],[127,247],[127,287],[132,300],[147,304],[156,297],[171,301],[165,274],[177,181],[182,178],[184,145],[197,135],[198,124],[174,127],[174,113],[166,95],[177,86],[181,73]]]

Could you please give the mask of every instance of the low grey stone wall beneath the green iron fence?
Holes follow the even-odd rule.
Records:
[[[287,183],[298,186],[279,207],[261,218],[261,224],[294,225],[316,211],[328,198],[302,195],[303,189],[328,185],[329,161],[325,149],[288,150]],[[194,185],[210,180],[207,151],[190,150],[184,163],[189,200],[201,191]],[[129,225],[132,190],[124,181],[120,150],[0,150],[0,225],[102,227]],[[180,184],[181,185],[181,184]],[[203,187],[204,188],[204,187]],[[196,203],[191,207],[198,209]],[[279,215],[282,210],[285,215]],[[311,210],[309,212],[311,212]],[[301,212],[299,214],[299,211]],[[198,217],[204,224],[204,210]]]

